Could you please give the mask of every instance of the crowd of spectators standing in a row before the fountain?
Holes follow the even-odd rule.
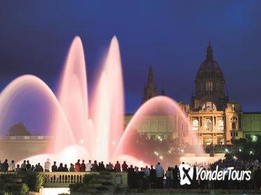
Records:
[[[124,161],[123,164],[120,164],[118,161],[116,164],[109,162],[104,164],[103,162],[94,162],[85,163],[80,159],[77,160],[75,164],[71,163],[70,167],[67,164],[60,163],[57,166],[57,162],[50,163],[50,159],[42,166],[40,163],[35,166],[31,165],[29,160],[24,160],[20,165],[15,166],[15,162],[12,160],[8,163],[8,159],[1,163],[0,161],[0,171],[17,171],[17,172],[97,172],[97,171],[114,171],[114,172],[126,172],[128,173],[128,186],[130,189],[137,189],[138,192],[143,192],[144,189],[150,188],[167,188],[167,189],[179,189],[179,188],[188,188],[188,189],[260,189],[261,187],[261,169],[260,164],[257,161],[255,162],[237,162],[237,164],[232,164],[235,170],[250,170],[251,171],[251,180],[197,180],[195,178],[196,167],[202,167],[203,170],[215,170],[218,166],[219,170],[225,170],[228,168],[228,165],[231,165],[227,160],[218,160],[214,164],[191,164],[193,166],[193,178],[191,185],[180,185],[181,174],[179,167],[175,165],[174,167],[168,167],[164,171],[163,166],[158,162],[154,168],[153,165],[145,167],[137,167],[126,164]],[[235,162],[234,162],[235,163]]]

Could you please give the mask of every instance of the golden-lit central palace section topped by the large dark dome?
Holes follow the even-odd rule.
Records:
[[[188,115],[192,129],[198,135],[193,143],[229,144],[232,137],[239,136],[241,106],[229,102],[223,72],[214,60],[210,41],[206,59],[197,70],[195,95],[191,97]]]

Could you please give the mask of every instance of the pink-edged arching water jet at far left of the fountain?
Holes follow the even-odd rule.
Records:
[[[45,104],[43,106],[43,104]],[[64,115],[64,111],[52,90],[38,77],[23,75],[13,80],[0,95],[0,130],[7,130],[15,123],[35,123],[41,129],[43,118],[50,121],[47,126],[47,134],[52,134],[52,121],[59,120],[60,126],[57,132],[59,139],[66,139],[74,144],[75,140],[70,125]],[[14,121],[15,120],[15,121]],[[29,126],[29,130],[30,130]],[[33,127],[33,126],[32,126]],[[41,131],[46,131],[41,129]]]

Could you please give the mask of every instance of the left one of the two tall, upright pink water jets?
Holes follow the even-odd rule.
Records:
[[[89,117],[86,75],[82,41],[79,37],[75,37],[70,46],[61,77],[58,100],[64,110],[70,129],[73,131],[76,143],[80,143],[80,140],[87,141]],[[52,130],[57,131],[55,128]]]

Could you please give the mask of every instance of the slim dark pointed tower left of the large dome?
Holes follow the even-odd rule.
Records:
[[[150,98],[154,98],[157,95],[156,85],[154,84],[154,73],[152,67],[149,67],[148,73],[148,81],[146,86],[144,86],[142,104],[149,100]]]

